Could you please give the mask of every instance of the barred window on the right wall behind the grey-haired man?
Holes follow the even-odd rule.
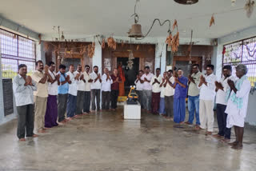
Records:
[[[256,82],[256,37],[247,38],[238,42],[233,42],[224,46],[223,66],[233,66],[233,74],[235,75],[235,66],[244,64],[247,66],[247,77],[252,86]]]

